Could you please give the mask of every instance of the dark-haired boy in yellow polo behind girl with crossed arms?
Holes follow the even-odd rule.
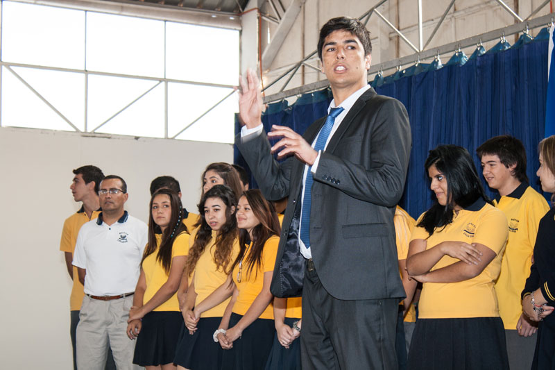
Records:
[[[495,206],[509,222],[509,239],[495,282],[509,364],[511,369],[529,369],[536,346],[537,323],[522,314],[520,292],[530,273],[538,224],[549,205],[528,184],[526,151],[520,140],[509,135],[492,137],[478,147],[477,154],[488,185],[499,192]]]

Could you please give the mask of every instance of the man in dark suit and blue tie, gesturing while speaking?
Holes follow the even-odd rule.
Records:
[[[334,100],[300,136],[262,128],[253,71],[241,80],[245,126],[236,144],[264,195],[289,196],[271,291],[302,292],[302,369],[397,369],[395,322],[404,297],[393,214],[411,148],[407,111],[368,86],[371,44],[356,19],[330,19],[318,56]],[[293,155],[281,165],[273,159]]]

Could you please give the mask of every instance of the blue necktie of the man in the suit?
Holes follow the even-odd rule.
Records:
[[[330,110],[330,115],[325,119],[325,124],[321,128],[320,133],[318,133],[318,139],[316,139],[316,144],[314,144],[314,150],[323,151],[325,147],[325,142],[327,142],[327,137],[330,136],[332,132],[332,127],[334,126],[334,121],[337,116],[343,112],[343,108],[332,108]],[[305,197],[302,201],[302,210],[300,210],[301,224],[300,224],[300,239],[305,244],[307,249],[310,248],[310,192],[312,188],[312,183],[314,182],[312,178],[312,172],[310,171],[311,166],[308,167],[307,180],[305,181]]]

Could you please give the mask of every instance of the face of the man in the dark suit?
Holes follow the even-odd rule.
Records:
[[[359,37],[349,31],[333,31],[322,47],[322,72],[336,88],[364,86],[371,56],[364,55]],[[360,87],[359,87],[360,86]]]

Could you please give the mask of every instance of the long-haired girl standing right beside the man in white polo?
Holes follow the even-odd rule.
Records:
[[[173,355],[182,326],[177,290],[187,262],[189,233],[182,223],[182,205],[176,192],[153,194],[148,218],[148,244],[127,335],[137,339],[133,363],[147,370],[176,369]]]

